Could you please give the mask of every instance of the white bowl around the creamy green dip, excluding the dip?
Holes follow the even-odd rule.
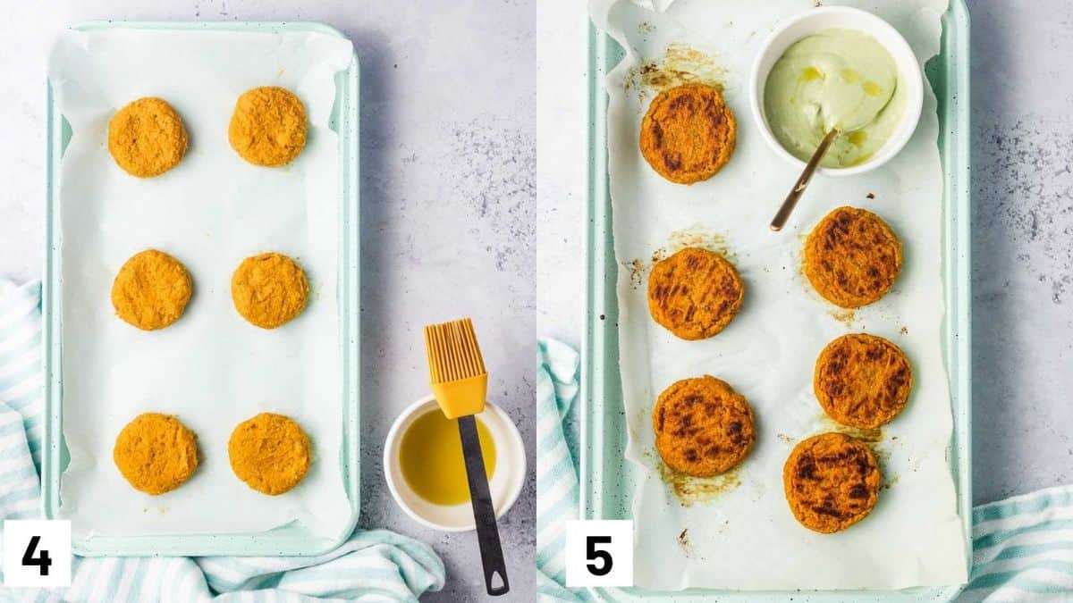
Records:
[[[794,42],[826,29],[852,29],[874,38],[891,53],[898,69],[898,86],[903,86],[908,92],[901,122],[886,143],[868,161],[850,167],[821,167],[819,170],[821,174],[827,176],[851,176],[883,165],[892,157],[898,155],[898,151],[912,137],[913,131],[916,130],[916,123],[921,119],[921,107],[924,104],[924,74],[921,72],[916,55],[913,54],[913,49],[909,47],[909,43],[898,33],[898,30],[866,11],[849,6],[823,6],[810,9],[779,25],[764,41],[756,55],[756,60],[752,63],[752,72],[749,76],[749,90],[752,92],[752,116],[767,144],[779,156],[802,170],[805,168],[805,162],[783,148],[767,124],[767,116],[764,112],[764,87],[771,68]]]

